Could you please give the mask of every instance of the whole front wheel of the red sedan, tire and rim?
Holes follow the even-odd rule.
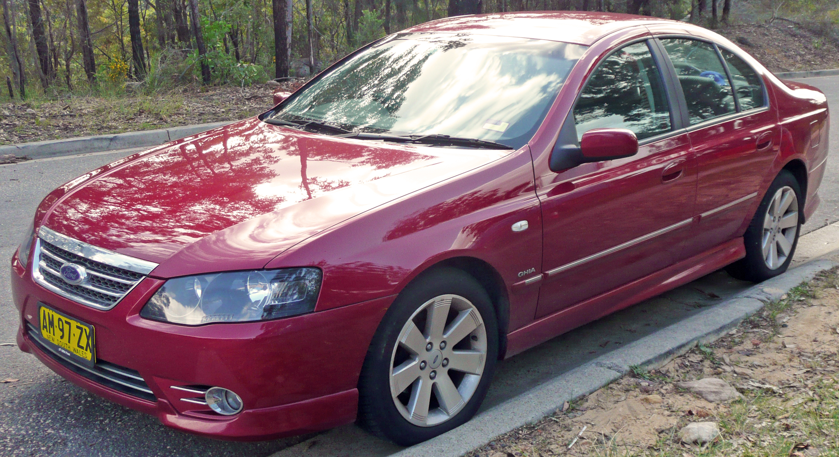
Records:
[[[441,268],[399,294],[379,325],[359,381],[363,426],[411,445],[465,423],[498,359],[492,302],[470,275]]]

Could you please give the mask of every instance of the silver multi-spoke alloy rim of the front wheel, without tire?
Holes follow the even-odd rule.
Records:
[[[454,418],[481,381],[487,329],[458,295],[425,302],[404,324],[390,359],[390,392],[402,417],[420,427]]]

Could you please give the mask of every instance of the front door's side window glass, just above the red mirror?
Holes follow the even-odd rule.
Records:
[[[670,109],[647,44],[613,53],[586,82],[574,108],[577,137],[591,129],[630,129],[638,139],[670,130]]]

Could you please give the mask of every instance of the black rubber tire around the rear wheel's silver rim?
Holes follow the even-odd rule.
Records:
[[[780,189],[790,188],[795,192],[795,203],[797,204],[797,224],[795,225],[795,238],[791,245],[792,248],[785,255],[785,260],[774,268],[768,265],[767,260],[763,256],[763,238],[764,234],[771,235],[771,231],[764,229],[764,220],[768,216],[769,205],[772,203],[775,195]],[[769,214],[771,218],[772,215]],[[763,196],[763,201],[758,206],[758,211],[754,213],[752,222],[749,223],[746,229],[746,234],[743,235],[743,242],[746,245],[746,257],[737,260],[732,265],[726,267],[729,275],[743,281],[760,282],[765,281],[771,277],[778,276],[789,267],[795,255],[795,247],[798,245],[798,237],[801,233],[801,223],[804,222],[804,195],[801,192],[801,186],[798,180],[795,179],[792,173],[787,170],[782,170],[778,176],[775,177],[766,195]],[[785,230],[785,229],[784,229]]]

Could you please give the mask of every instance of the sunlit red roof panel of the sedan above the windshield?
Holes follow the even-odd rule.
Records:
[[[443,18],[403,30],[404,33],[448,32],[485,34],[529,39],[549,39],[591,45],[619,29],[653,24],[673,24],[682,33],[690,27],[679,21],[622,13],[584,11],[529,11],[474,14]]]

